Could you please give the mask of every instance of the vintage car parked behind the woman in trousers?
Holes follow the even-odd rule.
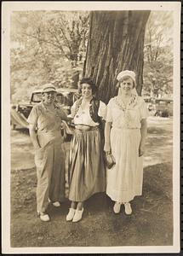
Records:
[[[71,105],[78,98],[77,89],[61,88],[57,90],[56,102],[58,102],[65,110],[66,114],[71,113]],[[34,90],[31,93],[30,102],[20,102],[18,104],[11,105],[11,125],[15,129],[16,126],[23,128],[28,127],[26,119],[31,113],[31,108],[42,101],[42,91]]]

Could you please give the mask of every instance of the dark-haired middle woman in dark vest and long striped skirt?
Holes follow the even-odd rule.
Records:
[[[90,196],[106,191],[106,175],[101,143],[101,119],[106,104],[94,98],[96,86],[91,79],[81,81],[82,97],[71,107],[75,132],[71,139],[69,200],[67,221],[77,222],[83,215],[83,203]]]

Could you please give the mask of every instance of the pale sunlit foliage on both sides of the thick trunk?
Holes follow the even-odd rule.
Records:
[[[144,93],[173,90],[173,14],[155,11],[146,25]],[[11,99],[28,100],[32,90],[52,82],[77,86],[89,37],[89,13],[22,11],[11,15]]]

